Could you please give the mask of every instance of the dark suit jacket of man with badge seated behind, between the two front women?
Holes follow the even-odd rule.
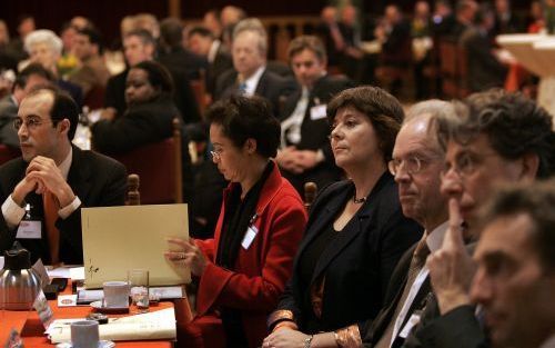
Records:
[[[317,105],[326,105],[335,95],[344,89],[354,87],[353,81],[344,77],[324,76],[316,81],[314,88],[310,91],[309,107],[304,113],[301,126],[301,141],[296,145],[299,150],[322,150],[325,160],[316,167],[297,175],[281,169],[282,175],[287,178],[299,192],[303,192],[304,182],[314,181],[317,187],[324,188],[327,185],[341,179],[341,169],[335,166],[335,159],[330,147],[330,122],[327,118],[312,119],[311,108]],[[299,88],[289,96],[283,105],[280,120],[284,120],[295,110],[301,99],[302,90]]]

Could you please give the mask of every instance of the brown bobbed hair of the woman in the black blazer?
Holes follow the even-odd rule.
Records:
[[[333,125],[335,115],[343,108],[354,108],[370,119],[379,137],[385,162],[391,160],[395,138],[405,116],[398,100],[377,87],[361,86],[346,89],[327,105],[330,125]]]

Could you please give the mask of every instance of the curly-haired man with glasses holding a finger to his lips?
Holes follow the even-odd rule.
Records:
[[[552,118],[533,100],[493,89],[470,96],[465,105],[460,118],[438,127],[446,145],[442,193],[450,199],[450,229],[427,260],[435,297],[406,347],[486,345],[468,295],[474,266],[461,233],[476,238],[478,210],[497,186],[531,183],[555,170]]]

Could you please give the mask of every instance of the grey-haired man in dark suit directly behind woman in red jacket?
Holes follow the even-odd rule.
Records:
[[[289,95],[293,82],[266,69],[268,34],[261,21],[250,18],[239,22],[233,30],[232,58],[234,70],[229,70],[216,81],[214,100],[233,95],[261,96],[279,115],[280,97]]]

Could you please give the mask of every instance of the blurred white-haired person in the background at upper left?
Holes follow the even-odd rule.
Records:
[[[75,83],[63,80],[58,72],[58,60],[63,49],[62,40],[53,31],[41,29],[28,34],[24,44],[30,62],[40,63],[50,70],[57,78],[56,84],[70,93],[71,98],[81,107],[83,105],[81,88]]]

